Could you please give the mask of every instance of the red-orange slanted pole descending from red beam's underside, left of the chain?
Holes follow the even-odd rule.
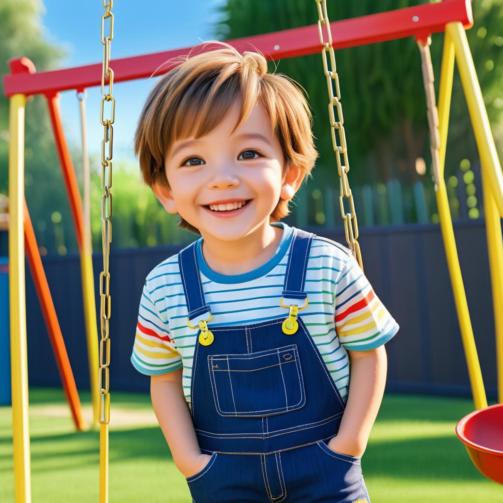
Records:
[[[68,145],[63,132],[63,124],[61,122],[61,114],[59,112],[59,95],[55,94],[47,96],[47,104],[49,105],[49,114],[51,117],[52,129],[54,131],[54,139],[58,150],[59,162],[61,163],[61,172],[68,194],[68,202],[70,203],[71,215],[75,226],[75,235],[77,238],[78,249],[82,252],[82,236],[84,234],[82,200],[78,190],[77,178],[73,169],[73,162],[68,151]]]

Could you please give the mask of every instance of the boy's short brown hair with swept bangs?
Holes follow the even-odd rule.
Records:
[[[134,137],[143,181],[149,186],[159,183],[170,188],[164,168],[169,146],[191,135],[198,139],[210,133],[227,116],[236,99],[240,99],[241,109],[232,132],[260,101],[283,149],[283,176],[291,166],[299,166],[303,181],[312,177],[318,153],[309,105],[299,90],[300,87],[305,92],[304,88],[285,74],[268,73],[261,53],[241,55],[234,47],[218,41],[196,47],[206,44],[221,48],[170,60],[180,64],[155,82],[146,99]],[[271,222],[290,213],[289,201],[280,199],[270,216]],[[182,217],[179,226],[200,234]]]

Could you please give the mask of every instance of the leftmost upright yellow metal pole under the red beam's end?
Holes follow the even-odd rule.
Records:
[[[28,358],[26,350],[24,148],[26,96],[10,99],[9,292],[11,313],[12,431],[16,503],[31,502]]]

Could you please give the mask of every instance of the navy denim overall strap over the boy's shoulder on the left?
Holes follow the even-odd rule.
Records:
[[[207,319],[211,315],[210,306],[206,305],[203,293],[203,285],[199,275],[199,267],[196,257],[196,242],[189,244],[178,254],[180,276],[184,287],[189,321],[197,324],[200,319]],[[204,315],[204,316],[203,316]]]

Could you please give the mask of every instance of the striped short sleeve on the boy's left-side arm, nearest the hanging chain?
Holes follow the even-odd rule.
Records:
[[[167,374],[182,368],[169,321],[157,311],[146,284],[141,294],[131,363],[146,375]]]

